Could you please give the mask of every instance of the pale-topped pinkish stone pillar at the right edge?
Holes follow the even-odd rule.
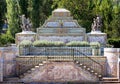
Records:
[[[119,78],[119,52],[117,48],[104,48],[104,56],[107,57],[107,74],[110,77]]]

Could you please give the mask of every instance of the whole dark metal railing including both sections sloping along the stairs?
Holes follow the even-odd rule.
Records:
[[[103,73],[103,66],[90,57],[92,51],[90,47],[32,47],[27,49],[29,49],[28,54],[22,53],[22,56],[19,56],[17,60],[18,75],[25,73],[30,68],[45,60],[79,61],[95,72],[99,74]]]

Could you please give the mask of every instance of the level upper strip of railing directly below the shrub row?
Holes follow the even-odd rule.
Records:
[[[19,48],[19,54],[30,56],[30,55],[60,55],[60,56],[69,56],[73,55],[72,49],[79,50],[86,55],[91,56],[92,55],[92,48],[91,47],[20,47]],[[82,56],[82,54],[78,52],[74,52],[74,55]]]

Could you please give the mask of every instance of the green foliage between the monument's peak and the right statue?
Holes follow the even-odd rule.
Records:
[[[71,11],[72,16],[78,20],[78,23],[85,27],[87,32],[91,30],[92,9],[91,0],[54,0],[53,7],[66,8]]]

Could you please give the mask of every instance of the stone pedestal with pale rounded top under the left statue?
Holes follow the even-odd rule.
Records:
[[[18,45],[23,40],[30,40],[35,41],[36,40],[36,33],[32,31],[23,31],[21,33],[16,34],[15,42]]]

